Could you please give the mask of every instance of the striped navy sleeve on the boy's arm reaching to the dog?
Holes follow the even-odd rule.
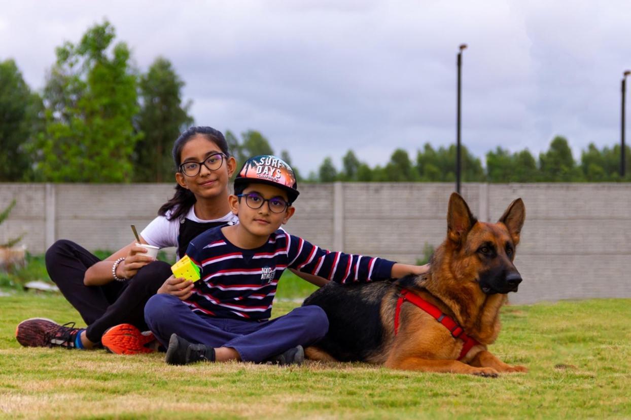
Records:
[[[288,235],[288,234],[287,234]],[[394,261],[364,255],[331,252],[289,236],[288,267],[333,280],[336,283],[367,283],[392,277]]]

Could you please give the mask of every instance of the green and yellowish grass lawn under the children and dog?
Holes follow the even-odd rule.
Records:
[[[274,316],[307,290],[290,279]],[[80,318],[60,295],[0,298],[0,417],[447,418],[631,417],[631,300],[507,306],[492,351],[527,374],[479,378],[363,364],[167,366],[163,354],[23,348],[29,317]]]

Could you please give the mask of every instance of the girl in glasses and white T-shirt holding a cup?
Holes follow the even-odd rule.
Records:
[[[211,127],[191,127],[175,141],[175,195],[144,228],[140,242],[177,247],[184,255],[189,242],[209,228],[237,221],[228,206],[228,180],[236,161],[223,134]],[[46,268],[61,293],[88,325],[59,325],[45,318],[21,322],[16,338],[23,346],[91,349],[102,341],[114,353],[148,353],[153,336],[144,322],[144,304],[165,284],[170,266],[145,255],[135,241],[101,261],[80,245],[59,240],[46,252]],[[118,324],[126,323],[127,325]],[[129,325],[131,324],[131,325]],[[109,329],[109,331],[107,331]],[[103,334],[107,331],[107,335]]]

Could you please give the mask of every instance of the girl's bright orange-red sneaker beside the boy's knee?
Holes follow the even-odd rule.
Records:
[[[141,332],[131,324],[119,324],[107,329],[101,337],[101,344],[115,354],[153,353],[160,345],[152,332]]]

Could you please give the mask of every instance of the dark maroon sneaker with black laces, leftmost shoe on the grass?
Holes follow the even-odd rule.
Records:
[[[74,322],[59,325],[47,318],[30,318],[18,324],[15,338],[25,347],[75,347],[77,334],[83,328],[74,328]]]

